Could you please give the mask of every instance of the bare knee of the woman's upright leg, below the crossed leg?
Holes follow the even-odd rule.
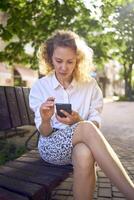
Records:
[[[91,150],[84,143],[75,145],[72,160],[74,169],[79,169],[81,172],[94,168],[94,157]]]

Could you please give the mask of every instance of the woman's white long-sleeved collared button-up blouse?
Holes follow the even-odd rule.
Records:
[[[94,78],[84,83],[73,80],[67,89],[63,88],[55,74],[38,79],[32,86],[29,95],[29,103],[35,113],[37,129],[41,124],[40,106],[50,96],[55,97],[55,103],[71,103],[72,110],[78,112],[82,119],[101,124],[100,113],[103,107],[103,96]],[[55,113],[51,118],[51,125],[58,129],[68,126],[60,123],[56,119]]]

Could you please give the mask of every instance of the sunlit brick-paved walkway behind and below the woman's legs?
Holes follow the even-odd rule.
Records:
[[[134,181],[134,102],[105,103],[101,130]],[[54,190],[52,199],[73,200],[72,174]],[[100,168],[97,169],[96,199],[126,200]]]

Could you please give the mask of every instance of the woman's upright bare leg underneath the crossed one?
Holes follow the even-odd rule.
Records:
[[[73,148],[73,194],[75,200],[92,200],[95,189],[94,158],[89,148],[79,143]]]

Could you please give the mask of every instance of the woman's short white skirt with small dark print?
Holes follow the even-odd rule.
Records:
[[[59,129],[50,136],[40,136],[38,149],[46,162],[65,165],[72,163],[72,136],[78,123]]]

